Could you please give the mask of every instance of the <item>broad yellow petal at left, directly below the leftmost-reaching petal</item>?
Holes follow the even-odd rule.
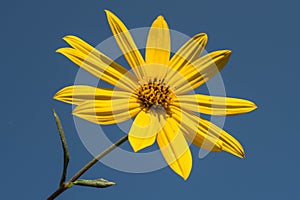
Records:
[[[79,104],[73,115],[96,124],[115,124],[134,117],[140,112],[136,98],[87,100]]]

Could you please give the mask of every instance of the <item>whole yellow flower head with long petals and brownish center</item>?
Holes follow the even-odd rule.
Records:
[[[54,98],[77,105],[73,115],[96,124],[135,117],[128,133],[133,150],[157,141],[166,162],[184,179],[192,168],[187,141],[209,151],[244,157],[243,147],[235,138],[197,113],[235,115],[250,112],[256,105],[243,99],[188,93],[217,74],[231,52],[218,50],[200,57],[207,43],[207,35],[201,33],[170,58],[170,31],[159,16],[149,30],[144,59],[122,21],[110,11],[106,14],[133,73],[78,37],[66,36],[64,40],[71,48],[57,52],[115,89],[74,85],[63,88]]]

